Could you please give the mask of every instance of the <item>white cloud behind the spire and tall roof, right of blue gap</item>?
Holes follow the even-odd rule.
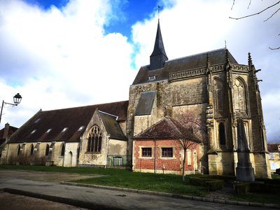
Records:
[[[258,78],[263,80],[260,90],[267,137],[269,141],[279,141],[280,113],[277,106],[269,107],[268,104],[280,101],[280,50],[269,50],[269,47],[280,45],[277,36],[280,17],[275,15],[263,22],[274,9],[242,20],[229,18],[258,12],[269,6],[271,1],[252,1],[249,8],[249,1],[235,1],[233,8],[233,1],[171,0],[167,4],[168,2],[175,2],[175,5],[160,13],[160,27],[169,59],[224,48],[225,41],[239,64],[247,64],[248,52],[251,52],[255,68],[262,69]],[[139,44],[137,66],[149,63],[157,23],[158,14],[155,11],[151,17],[133,26],[133,39]]]

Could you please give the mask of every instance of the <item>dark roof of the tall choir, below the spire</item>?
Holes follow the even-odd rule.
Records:
[[[197,55],[190,55],[187,57],[181,57],[179,59],[169,60],[165,62],[165,66],[162,69],[150,70],[150,65],[146,65],[139,69],[132,85],[151,82],[148,80],[149,76],[155,76],[155,80],[153,81],[166,80],[169,78],[169,73],[205,67],[207,64],[207,55],[209,57],[210,65],[225,63],[226,50],[225,48],[222,48],[209,52],[202,52]],[[228,58],[230,63],[238,64],[236,59],[230,54],[229,51]]]

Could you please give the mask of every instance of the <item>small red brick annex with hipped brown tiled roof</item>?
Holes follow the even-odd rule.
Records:
[[[141,132],[133,141],[132,169],[135,172],[181,174],[185,145],[185,172],[195,174],[198,167],[198,144],[201,141],[194,138],[193,132],[190,131],[191,128],[187,129],[167,116]]]

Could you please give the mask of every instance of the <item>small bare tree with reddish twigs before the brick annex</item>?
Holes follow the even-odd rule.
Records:
[[[183,148],[183,181],[185,181],[185,165],[186,165],[186,152],[189,148],[193,149],[197,144],[207,139],[207,128],[203,120],[198,115],[195,116],[193,112],[183,112],[177,118],[179,123],[185,128],[184,137],[179,139],[181,148]]]

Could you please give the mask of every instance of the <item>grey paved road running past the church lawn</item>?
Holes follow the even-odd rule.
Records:
[[[52,182],[42,181],[43,174],[47,174],[48,179],[51,176],[57,177],[58,181],[69,181],[81,177],[75,174],[0,170],[0,188],[10,188],[14,190],[14,193],[65,202],[86,209],[265,209],[102,188],[66,186],[57,183],[55,178]]]

